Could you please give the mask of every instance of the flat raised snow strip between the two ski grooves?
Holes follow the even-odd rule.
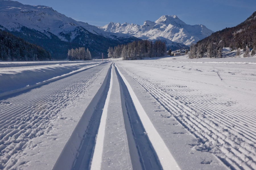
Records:
[[[123,119],[120,87],[112,68],[112,90],[107,110],[105,137],[102,152],[102,169],[132,169],[125,122]]]

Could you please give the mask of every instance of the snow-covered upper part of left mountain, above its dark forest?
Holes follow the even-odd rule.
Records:
[[[107,33],[96,26],[69,18],[51,7],[23,5],[17,1],[1,0],[0,18],[0,24],[9,30],[19,31],[21,26],[25,26],[40,32],[49,31],[63,41],[72,41],[76,37],[74,30],[82,28],[111,39],[131,37],[121,33]]]

